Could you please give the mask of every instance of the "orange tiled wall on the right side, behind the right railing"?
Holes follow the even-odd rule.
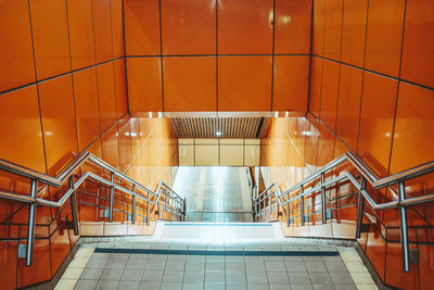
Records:
[[[285,125],[286,121],[281,121],[269,129],[261,163],[272,166],[265,171],[269,181],[301,180],[303,174],[315,172],[347,150],[356,152],[381,177],[433,160],[433,9],[432,1],[417,0],[314,1],[309,113],[302,122],[288,121],[290,125]],[[283,128],[293,142],[284,138]],[[299,141],[295,161],[281,157],[290,159],[291,152],[284,151],[294,151],[292,143]],[[282,146],[284,142],[290,149]],[[406,186],[408,197],[433,189],[432,175]],[[345,192],[350,193],[352,188],[331,193]],[[396,199],[391,191],[370,192],[379,202]],[[352,204],[356,201],[349,200]],[[348,236],[354,232],[356,209],[345,209],[346,213],[332,213],[332,226],[326,231],[322,226],[312,226],[314,218],[305,229],[293,227],[292,234]],[[419,265],[411,264],[409,274],[401,269],[397,211],[366,207],[373,219],[365,220],[370,232],[358,242],[386,285],[431,289],[433,206],[413,206],[408,212],[410,248],[419,251],[420,260]],[[340,219],[346,219],[350,227],[342,230],[342,225],[335,226]]]

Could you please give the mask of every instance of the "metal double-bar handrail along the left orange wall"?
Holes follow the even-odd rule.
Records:
[[[74,174],[85,163],[90,162],[98,167],[107,171],[110,173],[110,180],[105,179],[102,176],[99,176],[92,172],[87,171],[84,173],[77,180],[74,179]],[[35,241],[35,215],[36,215],[36,206],[49,206],[49,207],[61,207],[65,204],[65,202],[71,199],[71,209],[72,209],[72,218],[74,222],[74,235],[79,236],[79,227],[78,227],[78,215],[77,215],[77,201],[76,201],[76,191],[77,188],[87,179],[93,179],[99,181],[105,186],[110,187],[110,209],[108,209],[108,222],[113,222],[113,206],[114,206],[114,192],[118,190],[120,192],[130,194],[132,197],[132,211],[131,211],[131,224],[136,222],[136,200],[142,200],[146,203],[146,224],[150,223],[150,205],[153,204],[157,206],[158,214],[159,207],[163,206],[164,211],[167,211],[171,214],[178,216],[181,220],[184,219],[186,216],[186,200],[182,199],[178,193],[176,193],[165,182],[161,181],[156,191],[152,191],[141,184],[137,182],[132,178],[128,177],[120,171],[116,169],[105,161],[97,157],[90,152],[84,152],[78,155],[69,166],[67,166],[64,171],[62,171],[56,177],[51,177],[33,169],[13,164],[11,162],[0,160],[0,171],[9,172],[18,176],[23,176],[30,179],[30,194],[20,194],[15,192],[8,192],[0,190],[0,198],[9,199],[18,202],[25,202],[29,204],[28,211],[28,230],[27,230],[27,245],[26,245],[26,265],[30,266],[33,263],[33,250],[34,250],[34,241]],[[117,180],[115,180],[117,177]],[[125,181],[132,187],[130,190],[127,187],[123,186]],[[63,185],[68,185],[68,190],[63,194],[63,197],[54,202],[46,199],[38,198],[47,191],[48,186],[52,186],[59,188]],[[41,188],[38,191],[38,184],[41,184]],[[139,193],[139,191],[146,193],[148,197],[144,197]],[[164,203],[162,201],[162,197],[164,197]]]

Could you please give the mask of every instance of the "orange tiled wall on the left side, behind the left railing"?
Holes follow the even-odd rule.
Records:
[[[123,128],[116,121],[127,112],[123,38],[122,0],[0,1],[0,157],[51,176],[86,149],[108,159],[102,134]],[[2,190],[28,194],[28,184],[0,176]],[[2,289],[55,274],[77,240],[66,229],[69,212],[38,207],[26,267],[17,244],[26,241],[27,206],[0,201]]]

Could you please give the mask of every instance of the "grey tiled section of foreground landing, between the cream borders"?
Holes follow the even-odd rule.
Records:
[[[357,289],[341,256],[93,253],[75,289]]]

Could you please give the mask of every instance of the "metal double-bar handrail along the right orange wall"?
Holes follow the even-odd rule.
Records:
[[[342,172],[340,175],[326,180],[326,174],[332,169],[335,169],[337,165],[343,162],[349,162],[350,165],[356,169],[357,173],[361,175],[361,182],[357,180],[357,178],[350,174],[348,171]],[[336,157],[331,161],[329,164],[321,167],[315,174],[308,176],[303,179],[295,186],[290,189],[281,192],[277,182],[272,182],[269,185],[263,192],[260,192],[253,200],[253,209],[254,215],[256,217],[265,215],[267,207],[271,206],[271,198],[276,197],[278,203],[282,207],[286,207],[286,226],[290,226],[290,203],[293,201],[299,201],[301,207],[301,225],[305,224],[304,218],[304,199],[312,193],[321,192],[321,213],[322,213],[322,223],[327,224],[327,201],[326,201],[326,189],[336,185],[342,181],[350,181],[354,187],[360,192],[360,198],[357,205],[357,225],[356,225],[356,239],[360,238],[361,232],[361,222],[363,217],[363,207],[365,202],[373,210],[391,210],[391,209],[399,209],[399,219],[400,219],[400,242],[401,242],[401,253],[403,253],[403,268],[405,272],[410,270],[410,251],[409,251],[409,241],[408,241],[408,220],[407,220],[407,206],[421,204],[426,202],[434,201],[434,193],[407,198],[406,197],[406,180],[429,174],[434,172],[434,161],[427,162],[425,164],[416,166],[413,168],[404,171],[401,173],[391,175],[385,178],[379,178],[376,174],[374,174],[367,165],[363,164],[362,161],[359,160],[358,156],[353,154],[352,152],[346,152],[343,155]],[[317,179],[320,178],[319,186],[312,186],[310,188],[306,188],[308,185],[316,182]],[[374,189],[381,189],[388,187],[388,189],[395,193],[397,200],[384,203],[376,203],[372,197],[367,191],[367,184],[370,184]],[[393,185],[397,185],[397,192],[392,187]],[[291,197],[291,193],[299,190],[298,194],[295,197]]]

